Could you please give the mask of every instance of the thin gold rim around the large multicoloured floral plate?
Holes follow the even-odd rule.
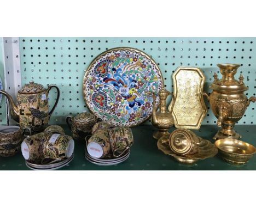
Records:
[[[124,46],[124,47],[114,47],[114,48],[110,48],[110,49],[108,49],[108,50],[106,50],[106,51],[103,51],[102,53],[98,54],[94,59],[92,59],[92,61],[91,61],[91,63],[89,64],[88,68],[84,70],[85,73],[84,73],[84,77],[83,77],[83,99],[84,99],[85,105],[86,105],[86,107],[89,109],[89,112],[90,112],[90,113],[94,114],[94,112],[93,112],[93,111],[89,108],[89,106],[88,106],[88,102],[87,102],[86,96],[85,96],[85,84],[84,84],[84,83],[85,83],[85,80],[86,80],[86,77],[88,76],[88,71],[89,71],[89,69],[91,68],[91,66],[92,66],[93,64],[95,64],[96,60],[97,60],[98,58],[100,58],[101,56],[103,56],[104,54],[106,54],[106,53],[108,53],[108,52],[110,52],[110,51],[127,50],[127,49],[128,49],[128,50],[131,50],[131,51],[133,50],[133,51],[135,51],[135,52],[137,52],[137,53],[141,53],[143,56],[145,56],[146,58],[148,58],[149,60],[151,60],[152,63],[155,64],[155,68],[159,71],[159,76],[161,77],[160,82],[162,82],[162,85],[163,85],[163,86],[165,85],[165,83],[164,83],[164,78],[163,78],[163,76],[162,76],[162,72],[161,72],[161,70],[160,70],[158,64],[157,64],[156,61],[155,61],[152,57],[150,57],[147,53],[145,53],[145,52],[139,50],[138,48],[134,48],[134,47],[125,47],[125,46]],[[158,109],[159,104],[160,104],[160,103],[158,103],[158,105],[156,105],[156,110]],[[152,113],[152,114],[153,114],[153,113]],[[143,120],[143,121],[141,121],[141,122],[138,122],[137,124],[125,125],[125,126],[127,126],[127,127],[133,127],[133,126],[138,126],[138,125],[141,125],[141,124],[143,124],[143,123],[146,123],[146,121],[148,121],[148,120],[151,118],[152,114],[148,115],[148,118],[146,118],[145,120]],[[94,115],[95,115],[95,114],[94,114]],[[97,117],[97,115],[95,115],[95,116]],[[100,117],[97,117],[97,118],[100,118]],[[107,124],[109,124],[108,121],[104,121],[104,122],[106,122]]]

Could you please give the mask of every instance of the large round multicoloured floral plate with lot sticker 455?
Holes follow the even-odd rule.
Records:
[[[146,53],[112,48],[97,56],[85,71],[84,100],[106,123],[136,126],[152,115],[152,95],[158,94],[163,83],[158,65]]]

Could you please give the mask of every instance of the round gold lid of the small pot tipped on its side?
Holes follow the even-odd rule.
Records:
[[[173,152],[177,154],[186,154],[192,148],[193,136],[188,130],[177,129],[169,136],[169,145]]]

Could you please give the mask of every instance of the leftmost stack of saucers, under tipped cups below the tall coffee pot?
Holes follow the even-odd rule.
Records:
[[[26,166],[32,170],[57,170],[64,166],[66,166],[68,163],[70,163],[74,158],[74,152],[71,157],[69,158],[63,158],[60,161],[54,162],[52,161],[44,161],[43,164],[35,164],[29,161],[26,161]]]

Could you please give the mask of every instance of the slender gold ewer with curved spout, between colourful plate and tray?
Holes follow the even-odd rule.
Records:
[[[166,98],[170,95],[170,91],[162,88],[158,95],[160,99],[159,108],[160,111],[156,112],[155,105],[155,94],[153,94],[153,114],[152,114],[152,125],[158,128],[157,132],[153,133],[153,138],[159,139],[162,136],[168,136],[170,134],[167,130],[173,126],[173,118],[170,112],[166,111]]]

